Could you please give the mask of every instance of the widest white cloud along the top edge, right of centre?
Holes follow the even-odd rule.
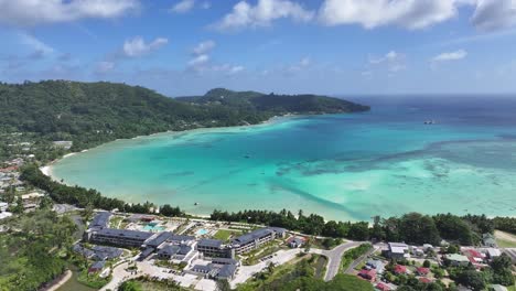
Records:
[[[471,0],[325,0],[319,11],[326,25],[359,24],[366,29],[399,25],[423,29],[453,18]]]

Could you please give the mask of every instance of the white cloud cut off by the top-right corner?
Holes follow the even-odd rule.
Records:
[[[484,31],[516,25],[516,0],[477,0],[471,22]]]

